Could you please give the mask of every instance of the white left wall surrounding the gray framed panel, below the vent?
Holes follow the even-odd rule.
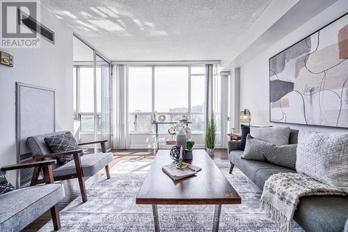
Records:
[[[0,65],[0,166],[16,163],[15,82],[56,89],[56,130],[73,130],[72,29],[44,7],[40,21],[55,32],[55,45],[41,39],[40,49],[0,48],[14,59],[13,68]],[[8,178],[15,184],[14,171]]]

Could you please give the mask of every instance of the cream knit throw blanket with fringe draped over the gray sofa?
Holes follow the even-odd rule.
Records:
[[[276,221],[280,231],[290,232],[299,198],[310,195],[346,194],[302,173],[276,173],[264,183],[260,207]]]

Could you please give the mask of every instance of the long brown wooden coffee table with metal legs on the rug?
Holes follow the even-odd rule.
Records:
[[[172,180],[161,169],[171,162],[169,150],[159,150],[136,196],[137,204],[152,205],[155,231],[159,231],[157,205],[216,205],[212,231],[218,231],[221,205],[240,204],[239,194],[205,150],[193,150],[193,160],[189,163],[202,167],[196,176]]]

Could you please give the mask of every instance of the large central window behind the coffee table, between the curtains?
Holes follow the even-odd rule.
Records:
[[[179,121],[188,114],[193,132],[205,130],[205,66],[144,66],[128,68],[129,132],[153,132],[152,115]],[[160,125],[166,132],[168,125]]]

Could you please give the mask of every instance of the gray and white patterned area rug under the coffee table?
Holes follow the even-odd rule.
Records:
[[[152,208],[136,205],[135,198],[151,160],[119,162],[111,179],[87,187],[88,201],[74,199],[61,211],[60,231],[154,231]],[[222,206],[220,231],[278,231],[260,212],[262,191],[228,161],[215,162],[242,197],[242,204]],[[161,231],[212,231],[214,206],[158,206]],[[40,231],[52,231],[52,221]],[[293,231],[302,231],[294,224]]]

